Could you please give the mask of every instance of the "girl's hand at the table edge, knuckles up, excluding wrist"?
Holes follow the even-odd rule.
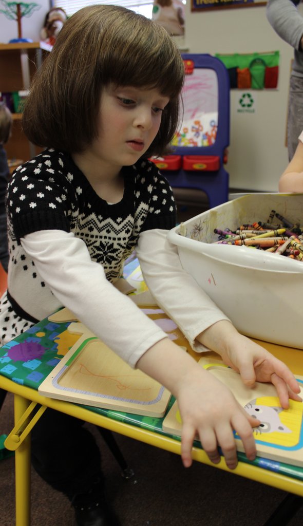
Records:
[[[199,369],[191,371],[190,377],[184,379],[176,392],[183,422],[181,457],[184,466],[191,465],[191,448],[198,435],[211,462],[220,462],[219,446],[227,467],[236,468],[238,460],[233,430],[239,434],[247,458],[254,460],[256,445],[252,427],[260,422],[248,415],[223,383],[203,368]]]

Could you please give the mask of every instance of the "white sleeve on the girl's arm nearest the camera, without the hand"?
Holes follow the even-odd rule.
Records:
[[[135,367],[149,347],[167,337],[106,279],[102,265],[90,259],[85,243],[71,232],[37,231],[21,243],[60,304],[130,366]]]

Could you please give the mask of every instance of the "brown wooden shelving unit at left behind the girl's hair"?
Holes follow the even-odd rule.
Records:
[[[44,42],[0,44],[0,92],[29,89],[36,70],[52,46]],[[41,151],[22,131],[22,114],[13,114],[12,136],[5,145],[9,159],[28,160]]]

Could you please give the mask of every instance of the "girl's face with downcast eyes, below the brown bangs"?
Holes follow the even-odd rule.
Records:
[[[109,85],[102,92],[98,137],[89,153],[108,168],[133,165],[156,137],[168,102],[157,89]]]

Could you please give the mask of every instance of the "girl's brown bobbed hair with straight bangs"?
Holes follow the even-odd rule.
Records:
[[[80,152],[98,135],[104,87],[156,88],[170,100],[144,157],[161,155],[178,126],[183,82],[183,60],[163,27],[121,6],[84,7],[67,19],[33,79],[23,130],[38,146]]]

